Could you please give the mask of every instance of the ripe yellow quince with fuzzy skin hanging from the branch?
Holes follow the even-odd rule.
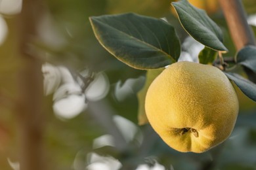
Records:
[[[171,148],[200,153],[229,137],[239,104],[220,69],[180,61],[152,82],[145,110],[151,126]]]

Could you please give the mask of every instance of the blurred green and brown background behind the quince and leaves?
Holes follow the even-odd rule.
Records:
[[[190,3],[221,27],[225,56],[233,57],[217,1]],[[242,3],[256,33],[256,1]],[[89,23],[123,12],[164,18],[181,39],[181,59],[197,61],[203,46],[182,29],[169,0],[0,1],[0,169],[256,169],[256,103],[238,88],[232,135],[203,154],[177,152],[150,125],[138,125],[146,72],[104,50]]]

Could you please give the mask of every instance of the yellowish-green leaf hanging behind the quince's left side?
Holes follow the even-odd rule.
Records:
[[[144,109],[145,105],[145,98],[146,98],[146,92],[148,92],[148,88],[150,84],[153,82],[153,80],[160,75],[160,73],[164,69],[154,69],[154,70],[148,70],[146,73],[146,82],[143,86],[143,88],[137,93],[138,101],[139,101],[139,109],[138,109],[138,124],[144,125],[148,123],[148,118],[146,117],[146,112]]]

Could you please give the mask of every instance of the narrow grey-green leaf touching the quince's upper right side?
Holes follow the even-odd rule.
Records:
[[[225,73],[225,75],[230,80],[233,80],[236,86],[238,86],[238,88],[240,88],[240,90],[245,95],[247,95],[247,97],[249,97],[253,101],[256,101],[256,84],[236,73]]]

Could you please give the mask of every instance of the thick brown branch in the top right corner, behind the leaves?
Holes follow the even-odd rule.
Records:
[[[228,28],[236,46],[236,50],[241,50],[244,46],[255,46],[255,36],[251,27],[247,24],[246,14],[240,0],[219,0],[223,9]],[[256,83],[256,74],[244,67],[249,80]]]

